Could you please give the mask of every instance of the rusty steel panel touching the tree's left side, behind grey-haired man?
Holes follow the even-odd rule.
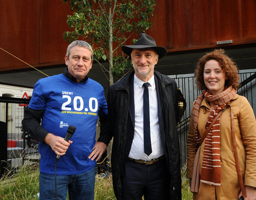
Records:
[[[65,63],[68,43],[62,35],[69,30],[68,14],[71,14],[69,3],[63,4],[60,0],[41,1],[39,63],[45,63],[44,65]]]

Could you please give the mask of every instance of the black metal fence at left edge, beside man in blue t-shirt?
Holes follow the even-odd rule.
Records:
[[[0,97],[0,170],[16,172],[20,166],[39,160],[37,145],[28,146],[21,121],[29,99]]]

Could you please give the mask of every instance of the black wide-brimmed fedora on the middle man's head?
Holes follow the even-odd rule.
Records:
[[[145,48],[152,48],[152,47],[155,49],[155,51],[159,55],[159,59],[163,58],[167,53],[167,50],[164,47],[156,46],[155,40],[145,33],[140,34],[138,41],[134,45],[122,46],[122,51],[125,54],[131,56],[133,49],[145,49]]]

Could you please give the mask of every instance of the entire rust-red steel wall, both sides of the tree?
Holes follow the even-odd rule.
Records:
[[[147,34],[169,52],[256,42],[255,0],[155,0]],[[69,4],[61,0],[0,0],[0,47],[30,65],[64,64]],[[217,41],[233,40],[217,45]],[[127,41],[127,44],[131,43]],[[29,68],[0,50],[0,71]]]

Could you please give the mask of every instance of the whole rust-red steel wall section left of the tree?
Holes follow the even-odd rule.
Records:
[[[69,4],[61,0],[0,0],[0,47],[34,67],[64,63]],[[0,50],[0,71],[30,68]]]

